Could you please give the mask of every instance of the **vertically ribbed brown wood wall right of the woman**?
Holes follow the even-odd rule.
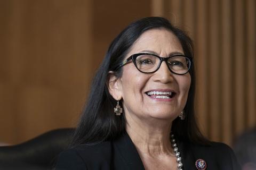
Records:
[[[163,16],[194,39],[202,131],[231,145],[236,135],[256,126],[255,1],[163,2],[155,8],[163,8]]]

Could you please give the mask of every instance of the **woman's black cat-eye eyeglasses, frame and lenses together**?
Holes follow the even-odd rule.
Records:
[[[181,54],[173,55],[170,57],[159,57],[155,54],[138,53],[133,54],[129,58],[123,61],[117,69],[127,64],[132,60],[136,68],[142,73],[154,73],[156,72],[163,61],[167,64],[169,70],[174,74],[186,74],[193,62],[193,58]],[[116,70],[117,70],[116,69]]]

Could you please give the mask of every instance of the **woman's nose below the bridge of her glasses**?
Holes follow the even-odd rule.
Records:
[[[173,73],[169,70],[164,61],[160,65],[159,69],[154,73],[153,80],[161,83],[170,83],[174,80]]]

